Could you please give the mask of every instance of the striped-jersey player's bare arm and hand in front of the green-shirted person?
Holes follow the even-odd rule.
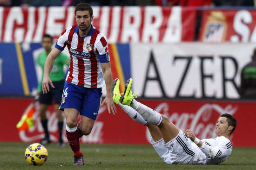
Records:
[[[43,93],[47,93],[49,89],[49,84],[54,88],[53,82],[50,79],[50,72],[54,66],[55,59],[61,54],[61,50],[58,50],[57,48],[53,48],[51,50],[50,54],[47,56],[45,64],[44,64],[44,75],[43,75],[43,81],[42,81],[42,90]]]

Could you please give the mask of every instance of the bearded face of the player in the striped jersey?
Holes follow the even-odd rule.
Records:
[[[90,16],[89,11],[77,11],[76,12],[76,23],[81,31],[87,31],[90,28],[91,22],[94,16]]]

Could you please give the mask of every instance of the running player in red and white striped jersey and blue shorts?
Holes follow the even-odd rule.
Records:
[[[49,91],[49,78],[54,60],[67,46],[70,65],[63,89],[61,110],[66,116],[66,134],[68,143],[74,152],[74,165],[83,165],[80,151],[78,128],[83,135],[89,135],[98,115],[99,107],[106,104],[108,113],[116,113],[112,100],[112,72],[108,43],[105,36],[91,22],[93,9],[88,3],[75,7],[77,25],[67,27],[48,55],[42,82],[43,93]],[[101,103],[101,88],[106,85],[106,97]],[[78,114],[81,114],[80,127],[77,127]]]

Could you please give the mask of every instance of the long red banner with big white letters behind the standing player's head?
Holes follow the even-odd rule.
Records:
[[[160,6],[93,6],[93,25],[108,43],[193,41],[195,8]],[[74,6],[0,7],[0,42],[41,42],[48,33],[57,39],[75,25]]]

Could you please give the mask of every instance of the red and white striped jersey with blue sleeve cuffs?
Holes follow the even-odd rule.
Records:
[[[66,81],[85,88],[105,86],[100,63],[110,62],[108,43],[104,35],[93,25],[86,37],[80,37],[78,26],[67,27],[61,33],[55,48],[64,50],[67,45],[70,65]]]

